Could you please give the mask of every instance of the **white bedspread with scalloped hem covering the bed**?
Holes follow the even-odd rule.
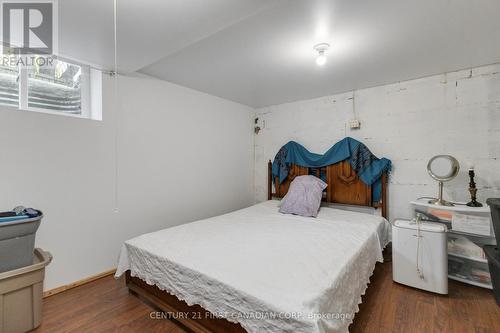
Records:
[[[122,247],[126,270],[248,332],[347,332],[388,222],[322,207],[283,215],[278,201],[145,234]]]

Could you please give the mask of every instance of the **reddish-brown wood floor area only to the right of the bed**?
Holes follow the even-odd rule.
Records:
[[[350,332],[499,333],[491,290],[449,280],[448,295],[392,281],[392,263],[377,264]]]

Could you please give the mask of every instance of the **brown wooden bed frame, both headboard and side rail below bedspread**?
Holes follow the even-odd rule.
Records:
[[[272,163],[268,163],[268,199],[282,198],[292,180],[301,175],[313,174],[319,177],[320,173],[326,175],[328,187],[325,190],[323,201],[329,203],[357,205],[365,207],[380,208],[382,216],[387,218],[387,174],[382,175],[381,202],[372,202],[372,188],[365,185],[351,169],[351,165],[344,161],[332,164],[321,169],[312,169],[292,165],[288,177],[279,184],[276,181],[275,192],[273,192]],[[209,311],[199,305],[187,305],[176,296],[160,290],[156,286],[148,285],[143,280],[132,277],[130,271],[126,272],[125,281],[129,292],[141,297],[154,307],[160,309],[171,319],[176,320],[195,333],[244,333],[246,332],[239,324],[229,322],[222,318],[215,318]],[[167,316],[168,318],[168,316]]]

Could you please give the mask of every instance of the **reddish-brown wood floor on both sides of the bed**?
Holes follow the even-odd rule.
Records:
[[[500,307],[489,290],[450,281],[449,295],[392,281],[392,264],[377,264],[350,332],[500,332]],[[35,332],[172,332],[187,330],[151,319],[153,308],[128,293],[123,279],[105,277],[48,297]]]

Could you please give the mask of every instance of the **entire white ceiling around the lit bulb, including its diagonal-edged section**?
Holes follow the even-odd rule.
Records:
[[[117,1],[120,70],[253,107],[500,62],[498,0]],[[112,1],[61,2],[80,8],[62,48],[109,65]],[[73,45],[80,25],[87,42]]]

